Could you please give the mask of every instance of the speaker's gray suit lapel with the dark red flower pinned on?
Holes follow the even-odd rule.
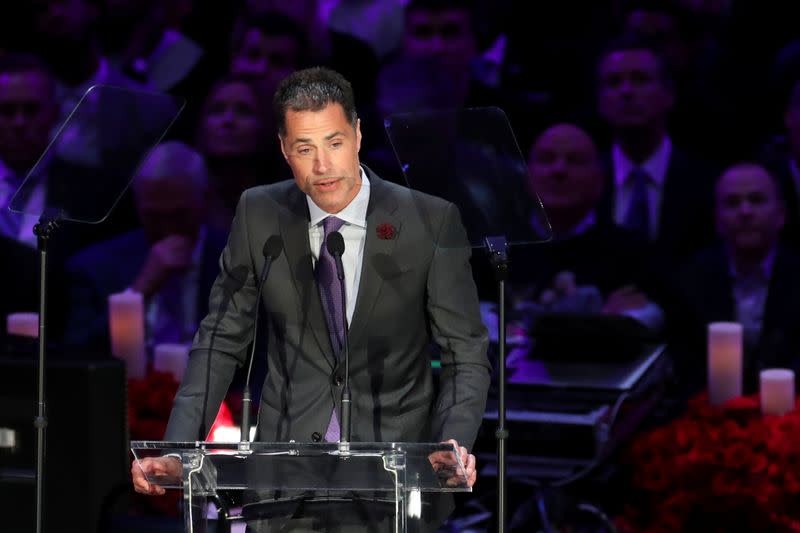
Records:
[[[378,299],[383,285],[383,277],[378,272],[380,257],[391,256],[397,237],[401,231],[402,221],[397,213],[397,200],[391,195],[383,180],[370,171],[370,197],[367,207],[367,236],[364,243],[364,257],[361,262],[361,279],[359,281],[356,308],[349,329],[349,342],[358,342],[367,329],[372,308]],[[381,224],[394,227],[392,239],[382,239],[377,228]]]

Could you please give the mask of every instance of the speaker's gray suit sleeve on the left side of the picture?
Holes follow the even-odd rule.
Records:
[[[245,361],[256,305],[247,199],[245,192],[236,208],[228,243],[220,256],[220,273],[211,288],[208,315],[194,337],[165,440],[205,439],[236,368]]]

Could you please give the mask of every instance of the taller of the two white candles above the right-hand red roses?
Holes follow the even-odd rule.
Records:
[[[742,395],[742,325],[708,325],[708,399],[720,405]]]

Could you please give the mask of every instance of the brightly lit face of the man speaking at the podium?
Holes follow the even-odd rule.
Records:
[[[288,111],[281,151],[300,189],[320,209],[338,213],[361,188],[358,151],[361,122],[355,128],[339,104],[320,111]]]

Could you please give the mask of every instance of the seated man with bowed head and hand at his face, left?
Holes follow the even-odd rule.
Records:
[[[68,262],[67,344],[107,352],[108,296],[126,289],[144,296],[149,346],[190,342],[207,312],[226,235],[205,225],[209,186],[202,156],[181,142],[161,144],[133,189],[142,229],[93,245]]]

